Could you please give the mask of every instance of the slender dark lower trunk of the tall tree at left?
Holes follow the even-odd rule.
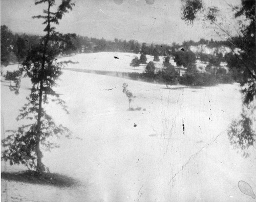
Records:
[[[42,152],[40,150],[40,135],[41,135],[41,116],[42,116],[42,80],[40,81],[39,89],[39,105],[38,105],[38,115],[37,115],[37,126],[36,126],[36,172],[44,172],[44,165],[42,164]]]

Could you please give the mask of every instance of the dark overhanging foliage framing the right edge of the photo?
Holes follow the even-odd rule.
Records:
[[[255,0],[243,0],[241,5],[229,5],[237,20],[236,33],[230,34],[223,21],[219,21],[220,13],[217,7],[205,7],[202,0],[188,0],[182,8],[182,19],[188,24],[202,20],[214,25],[217,34],[222,33],[227,38],[227,45],[232,50],[225,56],[227,66],[234,80],[241,84],[243,93],[243,111],[240,118],[234,120],[228,130],[231,144],[241,149],[246,157],[246,149],[253,146],[256,131],[253,129],[255,119],[256,98],[256,57],[255,57]],[[239,53],[234,52],[239,48]],[[219,72],[221,73],[221,72]]]

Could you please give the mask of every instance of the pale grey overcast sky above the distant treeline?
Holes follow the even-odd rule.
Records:
[[[57,3],[60,0],[56,1]],[[202,22],[187,26],[181,20],[180,0],[76,0],[75,7],[60,21],[57,31],[113,40],[135,39],[147,43],[198,41],[200,38],[220,39],[213,30],[204,29]],[[232,16],[227,3],[240,0],[204,0],[208,6],[218,6],[226,16]],[[46,5],[34,5],[34,0],[1,0],[1,25],[16,33],[42,35],[41,20]]]

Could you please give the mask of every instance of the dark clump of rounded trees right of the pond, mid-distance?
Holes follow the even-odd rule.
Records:
[[[142,44],[140,59],[135,57],[131,66],[139,66],[140,64],[146,64],[146,52],[145,44]],[[155,54],[152,52],[151,54]],[[217,55],[205,55],[205,62],[208,63],[205,68],[206,72],[201,72],[196,66],[196,54],[189,49],[173,49],[169,52],[170,55],[165,54],[163,65],[161,69],[156,71],[154,62],[156,61],[156,55],[154,60],[148,62],[145,67],[145,71],[139,74],[139,78],[147,81],[156,81],[159,83],[165,83],[167,86],[170,84],[183,84],[194,86],[211,86],[218,83],[232,83],[232,72],[227,72],[225,68],[220,66],[221,58]],[[177,68],[169,63],[170,57],[174,58],[174,62],[177,64]],[[180,75],[181,67],[185,69],[185,73]]]

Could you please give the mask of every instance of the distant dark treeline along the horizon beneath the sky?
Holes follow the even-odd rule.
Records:
[[[158,56],[167,56],[176,52],[180,48],[188,49],[189,46],[207,44],[209,47],[227,46],[226,41],[214,41],[201,39],[198,42],[184,41],[182,45],[173,43],[166,44],[140,44],[136,40],[105,40],[104,38],[89,38],[77,34],[62,34],[63,55],[77,53],[95,53],[95,52],[127,52],[142,53],[152,55],[158,60]],[[1,26],[1,65],[8,65],[22,61],[26,58],[28,50],[39,43],[41,36],[29,34],[13,34],[7,26]]]

